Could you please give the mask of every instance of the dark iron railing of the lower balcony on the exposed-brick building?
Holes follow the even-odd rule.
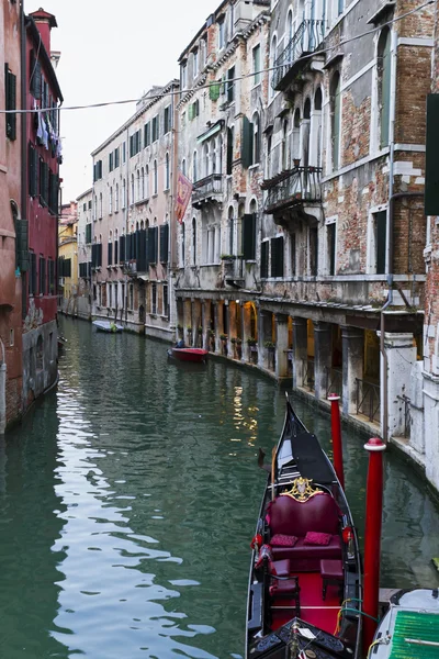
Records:
[[[322,167],[295,167],[267,181],[266,213],[322,201]]]

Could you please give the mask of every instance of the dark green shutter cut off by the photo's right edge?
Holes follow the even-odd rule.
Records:
[[[427,97],[425,214],[439,215],[439,93]]]

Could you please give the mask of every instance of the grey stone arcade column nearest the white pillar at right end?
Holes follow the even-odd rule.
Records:
[[[364,366],[364,330],[341,327],[344,414],[357,414],[357,378],[362,380]]]

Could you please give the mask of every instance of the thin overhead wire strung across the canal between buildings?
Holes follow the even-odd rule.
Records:
[[[306,55],[302,55],[301,56],[301,60],[303,59],[308,59],[312,57],[315,57],[316,54],[320,55],[324,53],[331,53],[334,51],[336,51],[337,48],[339,48],[340,46],[344,46],[345,44],[349,44],[351,42],[358,41],[359,38],[363,38],[364,36],[370,36],[372,34],[374,34],[375,32],[380,32],[381,30],[383,30],[383,27],[393,25],[394,23],[396,23],[397,21],[402,21],[404,19],[406,19],[407,16],[421,11],[423,9],[425,9],[426,7],[428,7],[429,4],[434,4],[435,0],[427,0],[427,2],[424,2],[423,4],[419,4],[418,7],[415,7],[414,9],[410,9],[409,11],[405,12],[404,14],[401,14],[399,16],[396,16],[394,19],[392,19],[391,21],[387,21],[385,23],[382,23],[380,25],[378,25],[376,27],[372,27],[371,30],[368,30],[365,32],[361,32],[360,34],[357,34],[354,36],[350,36],[347,38],[344,38],[335,44],[333,44],[331,46],[328,46],[327,48],[322,48],[318,51],[314,51],[313,53],[308,53]],[[237,76],[236,78],[230,78],[227,80],[214,80],[212,82],[207,82],[205,85],[196,85],[195,87],[192,87],[190,89],[178,89],[178,90],[169,90],[166,92],[160,92],[157,94],[148,94],[146,97],[140,97],[140,98],[136,98],[136,99],[123,99],[120,101],[103,101],[100,103],[87,103],[83,105],[63,105],[59,108],[60,111],[70,111],[70,110],[91,110],[91,109],[95,109],[95,108],[108,108],[110,105],[126,105],[130,103],[138,103],[142,102],[143,100],[145,101],[155,101],[155,100],[160,100],[164,98],[168,98],[168,97],[172,97],[172,96],[184,96],[188,94],[190,92],[195,92],[195,91],[200,91],[201,89],[210,89],[211,87],[216,87],[218,85],[232,85],[234,82],[238,82],[239,80],[245,80],[246,78],[251,78],[254,76],[260,75],[260,74],[267,74],[273,70],[277,70],[278,68],[283,67],[284,65],[274,65],[271,67],[266,67],[263,69],[257,70],[257,71],[251,71],[250,74],[244,74],[241,76]],[[0,110],[0,114],[12,114],[12,113],[16,113],[16,114],[29,114],[29,113],[34,113],[34,112],[49,112],[53,111],[54,108],[35,108],[35,109],[26,109],[26,110]]]

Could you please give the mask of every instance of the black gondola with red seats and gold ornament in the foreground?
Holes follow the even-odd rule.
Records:
[[[318,439],[286,399],[251,540],[246,659],[360,659],[361,558]]]

